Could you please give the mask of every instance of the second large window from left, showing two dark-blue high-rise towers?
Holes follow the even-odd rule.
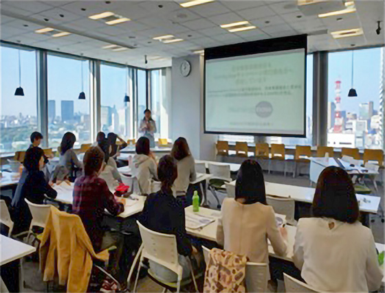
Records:
[[[67,131],[76,136],[75,148],[91,142],[89,61],[49,54],[47,74],[48,145],[56,148]]]

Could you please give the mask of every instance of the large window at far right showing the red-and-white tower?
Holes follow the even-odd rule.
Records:
[[[384,48],[329,54],[327,144],[335,148],[383,148],[380,111]],[[353,67],[352,67],[353,62]],[[357,97],[348,97],[352,87]]]

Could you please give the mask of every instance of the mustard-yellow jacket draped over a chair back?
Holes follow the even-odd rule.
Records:
[[[107,250],[96,254],[78,215],[51,207],[40,245],[40,270],[43,281],[58,276],[67,292],[87,292],[92,259],[107,261]]]

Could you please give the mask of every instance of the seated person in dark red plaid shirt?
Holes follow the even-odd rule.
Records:
[[[85,231],[91,239],[96,253],[115,245],[118,249],[113,262],[113,274],[118,281],[125,282],[129,272],[127,263],[129,255],[129,240],[124,241],[124,235],[109,231],[102,226],[104,209],[111,215],[118,215],[124,211],[124,198],[115,198],[107,183],[98,177],[104,153],[98,147],[91,147],[83,159],[85,175],[75,181],[74,200],[72,211],[80,216],[85,226]],[[123,256],[123,257],[122,257]]]

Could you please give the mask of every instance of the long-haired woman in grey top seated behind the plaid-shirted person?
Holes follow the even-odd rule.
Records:
[[[61,153],[59,165],[64,166],[69,172],[69,178],[74,181],[77,176],[80,176],[80,170],[83,169],[83,164],[78,160],[78,156],[74,151],[74,143],[76,141],[75,134],[66,132],[61,140]]]

